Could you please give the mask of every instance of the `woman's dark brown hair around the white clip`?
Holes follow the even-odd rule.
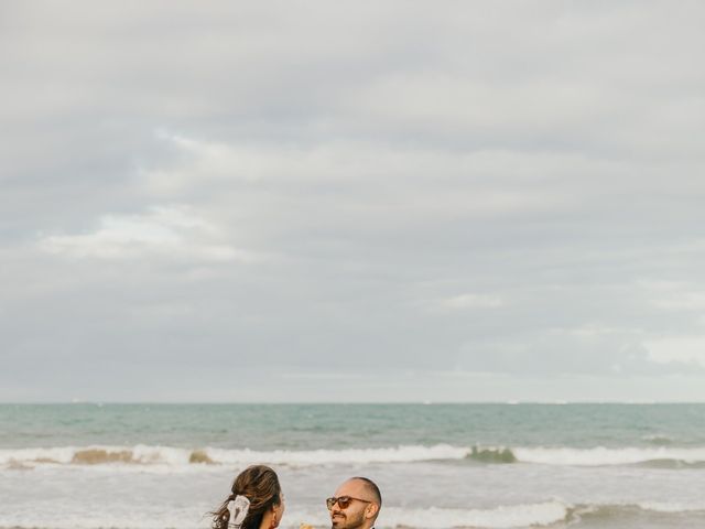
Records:
[[[250,509],[242,520],[240,529],[259,529],[262,517],[268,509],[282,503],[282,488],[276,473],[269,466],[253,465],[243,469],[232,482],[232,494],[223,505],[210,512],[213,529],[228,529],[228,521],[234,512],[228,510],[228,503],[236,496],[245,496],[250,500]]]

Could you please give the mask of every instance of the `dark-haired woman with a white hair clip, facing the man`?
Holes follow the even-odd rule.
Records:
[[[232,494],[213,515],[213,529],[275,529],[284,515],[284,496],[276,473],[254,465],[232,483]]]

